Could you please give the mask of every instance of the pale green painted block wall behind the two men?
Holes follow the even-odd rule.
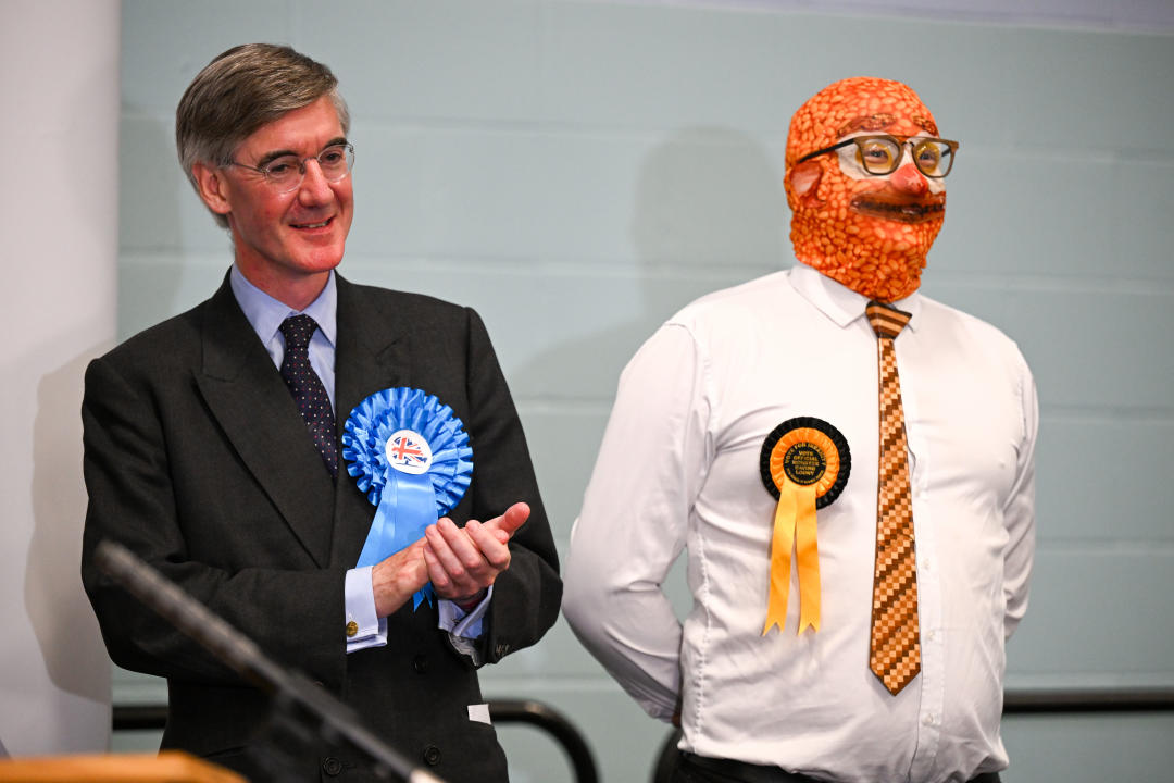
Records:
[[[1174,684],[1174,38],[718,4],[124,0],[121,336],[229,263],[171,128],[191,76],[251,40],[342,80],[358,150],[342,271],[481,312],[564,552],[635,347],[695,296],[791,263],[792,112],[845,76],[912,85],[962,141],[925,290],[1012,335],[1043,404],[1008,687]],[[647,779],[663,727],[565,623],[484,680],[569,715],[608,783]],[[1005,779],[1168,777],[1172,729],[1008,720]],[[502,734],[515,783],[569,779],[544,738]]]

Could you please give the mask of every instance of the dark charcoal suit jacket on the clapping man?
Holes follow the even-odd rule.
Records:
[[[494,586],[485,660],[533,644],[558,616],[561,582],[510,391],[480,318],[430,297],[338,278],[338,432],[369,394],[412,386],[461,419],[472,482],[451,517],[488,519],[531,505]],[[256,771],[243,750],[266,724],[266,698],[141,607],[93,565],[103,539],[129,547],[278,662],[351,704],[385,741],[446,779],[504,781],[468,660],[411,602],[389,617],[386,647],[345,653],[343,581],[375,507],[323,467],[294,400],[225,277],[210,299],[128,339],[86,372],[89,492],[82,578],[112,659],[167,677],[167,748]],[[299,779],[366,779],[343,748],[305,747]],[[303,775],[304,774],[304,775]]]

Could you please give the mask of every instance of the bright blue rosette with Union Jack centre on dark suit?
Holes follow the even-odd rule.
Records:
[[[343,432],[346,472],[376,507],[356,567],[373,566],[412,545],[465,495],[473,473],[468,434],[433,394],[399,386],[355,406]],[[413,608],[434,595],[431,582]]]

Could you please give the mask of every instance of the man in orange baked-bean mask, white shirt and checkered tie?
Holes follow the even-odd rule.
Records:
[[[821,90],[787,143],[801,263],[688,305],[620,379],[564,612],[681,727],[675,783],[1007,765],[1038,411],[1014,343],[918,291],[957,149],[905,85]]]

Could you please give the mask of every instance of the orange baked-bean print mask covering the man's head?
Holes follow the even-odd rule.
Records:
[[[855,144],[797,161],[850,136],[937,136],[933,116],[909,87],[884,79],[838,81],[791,117],[784,187],[795,257],[880,302],[920,284],[925,256],[945,220],[945,185],[908,157],[892,174],[869,175]],[[902,156],[905,150],[902,149]]]

